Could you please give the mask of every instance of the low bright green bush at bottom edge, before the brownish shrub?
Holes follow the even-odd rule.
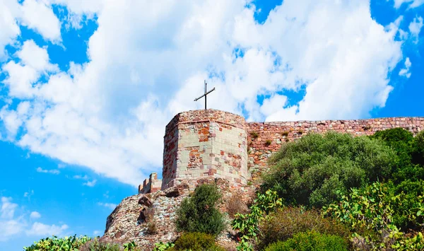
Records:
[[[297,233],[284,242],[273,243],[265,251],[347,251],[343,238],[316,232]]]

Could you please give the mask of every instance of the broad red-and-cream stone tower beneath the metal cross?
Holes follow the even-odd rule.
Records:
[[[162,189],[199,177],[240,185],[249,179],[244,117],[211,109],[181,112],[167,124],[164,144]]]

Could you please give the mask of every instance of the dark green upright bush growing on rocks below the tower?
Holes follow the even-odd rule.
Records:
[[[223,214],[216,209],[218,199],[216,186],[196,187],[194,194],[185,198],[177,209],[177,230],[218,235],[225,228]]]

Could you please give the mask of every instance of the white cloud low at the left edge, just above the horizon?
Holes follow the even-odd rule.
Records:
[[[17,211],[19,212],[17,215]],[[62,224],[61,226],[46,225],[44,223],[35,222],[28,229],[28,220],[40,218],[41,215],[37,211],[29,214],[23,208],[12,202],[9,197],[1,197],[0,211],[0,242],[6,241],[12,237],[20,235],[62,235],[64,230],[69,226]]]

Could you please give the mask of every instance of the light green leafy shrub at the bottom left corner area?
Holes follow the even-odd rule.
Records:
[[[57,238],[53,236],[52,238],[44,238],[37,242],[34,242],[30,247],[23,247],[26,251],[55,251],[55,250],[75,250],[85,243],[87,243],[91,238],[87,236],[81,236],[79,238],[76,235],[66,236],[64,238]]]

